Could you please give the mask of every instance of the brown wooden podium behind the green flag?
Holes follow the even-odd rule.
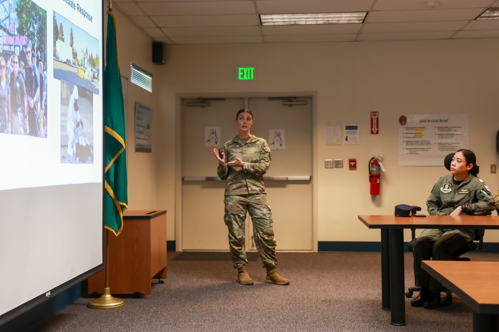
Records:
[[[151,279],[166,278],[166,210],[125,211],[123,230],[111,234],[109,288],[112,294],[150,294]],[[88,294],[102,294],[104,270],[88,278]]]

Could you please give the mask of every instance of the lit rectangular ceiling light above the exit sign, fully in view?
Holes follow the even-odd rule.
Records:
[[[309,14],[260,14],[261,25],[306,25],[362,23],[367,11]]]

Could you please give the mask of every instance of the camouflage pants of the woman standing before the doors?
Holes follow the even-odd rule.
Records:
[[[277,265],[272,213],[265,194],[225,196],[224,221],[229,228],[229,247],[234,268],[248,264],[245,251],[247,212],[253,224],[254,243],[264,267]]]

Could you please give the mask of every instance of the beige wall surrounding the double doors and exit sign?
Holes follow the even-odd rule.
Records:
[[[498,190],[499,175],[490,173],[490,165],[499,163],[499,39],[166,45],[166,64],[154,65],[151,38],[116,10],[115,15],[122,74],[130,77],[130,61],[154,74],[152,94],[128,87],[129,206],[166,209],[168,240],[175,240],[182,203],[182,96],[316,95],[314,220],[319,241],[378,241],[379,231],[365,227],[357,215],[393,214],[397,204],[419,205],[426,213],[429,192],[446,170],[398,166],[402,114],[470,114],[470,149],[477,154],[480,177],[494,193]],[[257,81],[236,82],[234,67],[248,64],[257,67]],[[136,101],[154,109],[150,154],[133,151]],[[379,111],[379,135],[370,135],[371,111]],[[359,123],[361,144],[326,146],[328,122]],[[380,153],[387,171],[382,174],[381,195],[371,197],[367,163]],[[349,158],[357,158],[357,171],[323,168],[324,159],[343,159],[347,166]],[[499,242],[499,232],[487,231],[486,241]]]

